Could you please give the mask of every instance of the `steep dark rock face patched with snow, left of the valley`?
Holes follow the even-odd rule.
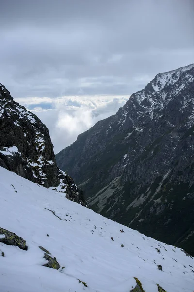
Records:
[[[82,192],[56,165],[48,128],[0,84],[0,166],[84,205]]]

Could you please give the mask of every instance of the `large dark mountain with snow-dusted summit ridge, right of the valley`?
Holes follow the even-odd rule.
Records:
[[[56,161],[93,210],[194,255],[194,64],[156,75]]]

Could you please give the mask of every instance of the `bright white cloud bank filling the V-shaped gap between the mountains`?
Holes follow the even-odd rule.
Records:
[[[130,95],[17,98],[49,128],[55,153],[73,143],[97,121],[117,112]]]

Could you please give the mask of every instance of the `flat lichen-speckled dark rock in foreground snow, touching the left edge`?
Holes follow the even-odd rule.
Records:
[[[14,232],[11,232],[9,230],[6,230],[0,227],[0,235],[5,236],[4,238],[0,238],[0,242],[7,245],[18,246],[20,249],[23,249],[25,251],[28,250],[28,247],[26,245],[26,240],[24,240],[22,237],[19,237]]]

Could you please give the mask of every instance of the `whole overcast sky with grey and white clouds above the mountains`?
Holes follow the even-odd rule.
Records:
[[[0,12],[0,82],[55,152],[157,73],[194,63],[194,0],[0,0]]]

